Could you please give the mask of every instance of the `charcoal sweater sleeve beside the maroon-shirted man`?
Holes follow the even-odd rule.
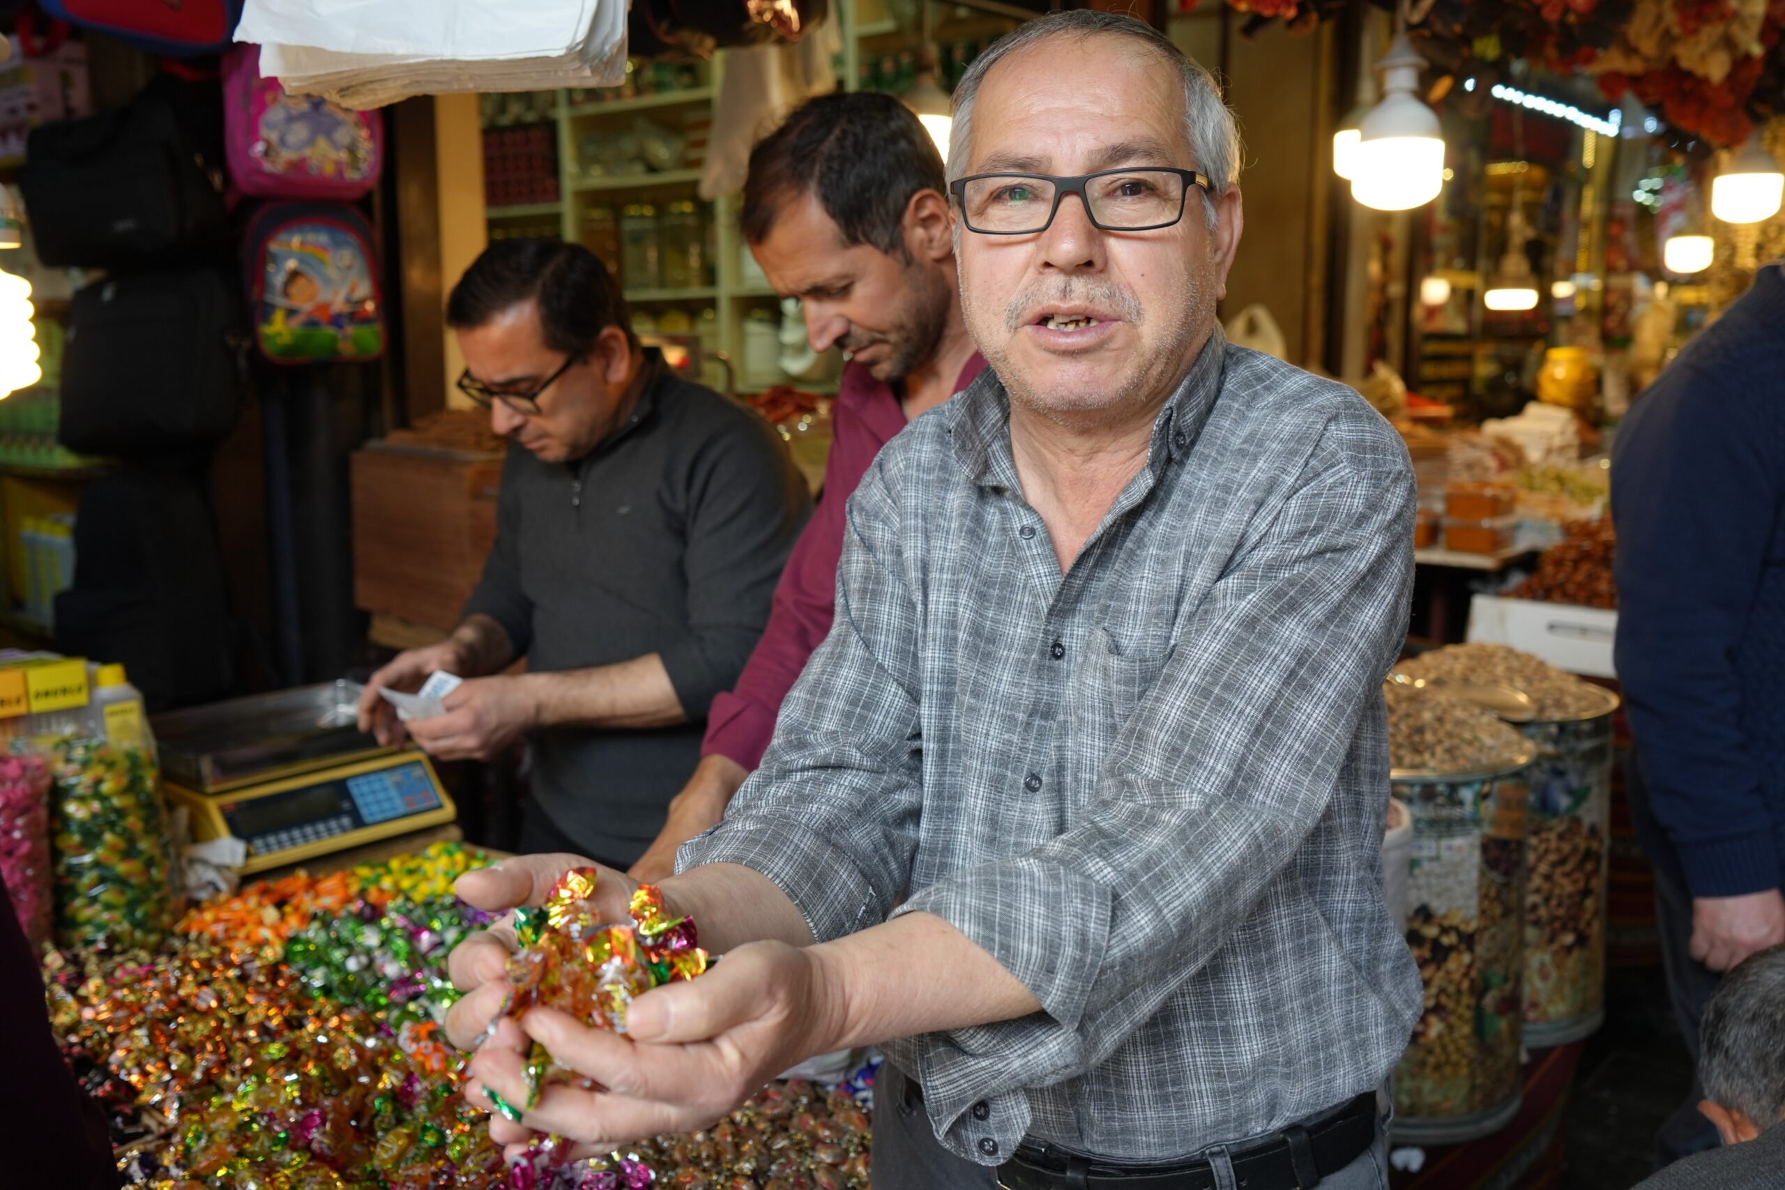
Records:
[[[705,719],[762,635],[812,498],[773,426],[755,416],[739,416],[689,466],[689,632],[660,657],[682,710]]]

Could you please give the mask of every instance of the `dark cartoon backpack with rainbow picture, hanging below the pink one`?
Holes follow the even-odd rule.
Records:
[[[270,203],[243,241],[250,321],[275,364],[384,355],[384,302],[371,227],[353,207]]]

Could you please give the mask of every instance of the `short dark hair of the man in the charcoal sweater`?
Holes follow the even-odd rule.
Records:
[[[637,343],[614,275],[582,244],[559,239],[503,239],[484,248],[446,298],[446,325],[482,326],[521,302],[539,303],[539,325],[553,351],[587,355],[609,326]]]

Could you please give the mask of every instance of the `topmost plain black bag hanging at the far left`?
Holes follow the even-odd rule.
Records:
[[[127,105],[30,130],[18,186],[37,259],[154,266],[225,243],[221,121],[175,79]]]

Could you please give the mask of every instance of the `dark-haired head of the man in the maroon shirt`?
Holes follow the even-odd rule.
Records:
[[[882,384],[935,355],[955,291],[942,155],[894,96],[789,112],[750,153],[739,227],[775,291],[805,303],[814,351],[848,351]]]

